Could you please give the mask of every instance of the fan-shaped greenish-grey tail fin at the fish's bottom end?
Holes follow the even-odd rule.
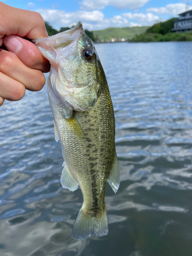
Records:
[[[72,230],[72,238],[84,239],[90,237],[92,234],[96,237],[102,237],[108,234],[106,209],[101,217],[89,217],[84,215],[83,208],[79,210]]]

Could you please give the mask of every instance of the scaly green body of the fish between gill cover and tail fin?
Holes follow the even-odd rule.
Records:
[[[83,143],[76,138],[68,125],[61,124],[59,127],[66,161],[81,187],[85,212],[88,211],[93,216],[104,211],[105,182],[110,174],[115,154],[115,119],[111,97],[108,95],[109,89],[105,82],[92,111],[86,114],[76,113],[75,116],[84,133]],[[102,111],[106,101],[109,108]],[[77,156],[77,161],[74,161],[74,155]],[[105,169],[107,172],[104,173]],[[92,180],[90,184],[86,183],[88,176]]]

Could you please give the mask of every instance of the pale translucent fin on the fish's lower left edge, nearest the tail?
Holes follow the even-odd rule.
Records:
[[[72,175],[69,172],[69,169],[65,162],[63,163],[62,175],[60,178],[60,182],[62,187],[68,188],[71,191],[74,191],[78,188],[78,183],[74,180]]]

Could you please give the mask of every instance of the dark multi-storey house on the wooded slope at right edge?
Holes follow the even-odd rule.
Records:
[[[174,20],[175,32],[187,32],[192,30],[192,10],[183,12],[179,14],[179,18]]]

